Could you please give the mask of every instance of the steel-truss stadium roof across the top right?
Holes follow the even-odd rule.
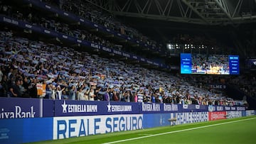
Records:
[[[256,21],[256,0],[85,0],[116,16],[228,25]]]

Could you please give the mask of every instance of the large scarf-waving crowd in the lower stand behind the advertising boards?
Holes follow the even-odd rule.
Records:
[[[1,96],[218,104],[235,101],[183,77],[1,32]],[[2,73],[2,74],[1,74]]]

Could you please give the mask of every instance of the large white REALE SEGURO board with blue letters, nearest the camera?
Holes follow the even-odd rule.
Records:
[[[132,131],[142,128],[142,114],[55,117],[53,118],[53,139]]]

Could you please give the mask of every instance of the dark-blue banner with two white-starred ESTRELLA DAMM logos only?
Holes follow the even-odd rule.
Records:
[[[139,103],[116,101],[55,101],[55,116],[92,116],[137,113],[139,113]]]

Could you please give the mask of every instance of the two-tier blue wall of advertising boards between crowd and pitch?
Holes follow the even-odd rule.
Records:
[[[0,143],[29,143],[252,115],[255,111],[245,111],[242,106],[0,98]]]

